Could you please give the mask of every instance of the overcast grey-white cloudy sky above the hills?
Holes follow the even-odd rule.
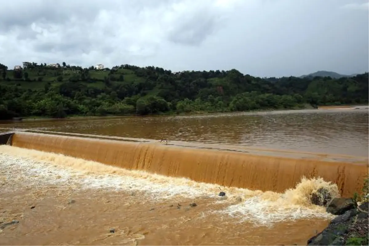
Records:
[[[369,72],[368,0],[0,0],[0,63]]]

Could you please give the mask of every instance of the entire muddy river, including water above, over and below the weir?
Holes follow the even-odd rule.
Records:
[[[305,245],[331,219],[311,192],[360,187],[368,122],[324,110],[3,124],[35,133],[0,146],[0,221],[19,221],[0,244]]]

